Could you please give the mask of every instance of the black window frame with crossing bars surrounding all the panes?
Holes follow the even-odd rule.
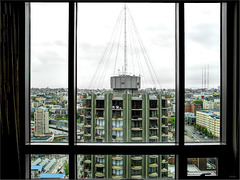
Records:
[[[31,2],[35,2],[34,0]],[[39,2],[39,1],[38,1]],[[44,2],[44,1],[41,1]],[[69,44],[68,44],[68,103],[69,119],[76,119],[76,73],[77,73],[77,3],[69,2]],[[79,1],[80,2],[80,1]],[[95,1],[89,1],[95,2]],[[109,1],[110,2],[110,1]],[[120,2],[120,1],[119,1]],[[128,1],[134,2],[134,1]],[[77,144],[76,123],[69,121],[68,143],[30,143],[29,102],[30,102],[30,4],[25,6],[25,64],[20,67],[21,87],[20,107],[21,127],[21,160],[24,178],[31,178],[30,154],[68,154],[69,179],[77,178],[76,156],[78,154],[174,154],[176,160],[176,179],[193,179],[187,176],[187,158],[217,157],[218,176],[208,179],[239,178],[239,2],[212,0],[221,3],[221,142],[220,143],[184,143],[184,94],[185,94],[185,62],[184,62],[184,3],[204,3],[205,0],[160,0],[150,1],[175,3],[175,42],[176,42],[176,143],[174,144]],[[233,34],[233,35],[232,35]],[[225,128],[226,127],[226,128]],[[235,136],[235,137],[234,137]],[[96,148],[97,147],[97,148]],[[97,151],[96,151],[97,149]],[[187,153],[186,153],[187,152]],[[227,156],[229,154],[229,157]],[[228,163],[228,166],[225,166]],[[232,169],[231,169],[232,168]],[[202,177],[194,177],[200,179]]]

